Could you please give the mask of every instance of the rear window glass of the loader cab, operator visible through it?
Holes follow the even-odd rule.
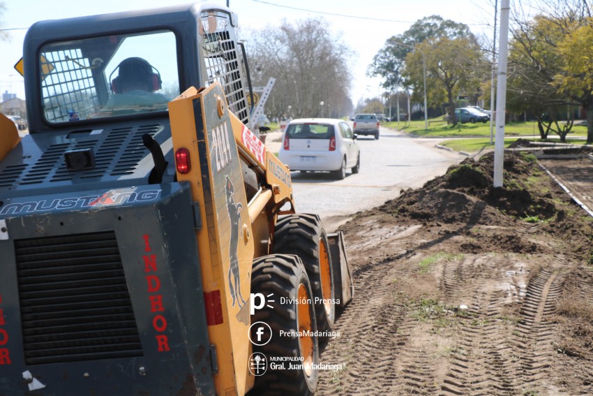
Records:
[[[165,111],[179,95],[172,31],[50,43],[40,51],[48,122]]]

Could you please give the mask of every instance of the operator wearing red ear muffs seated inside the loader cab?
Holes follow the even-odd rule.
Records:
[[[115,71],[116,78],[111,80]],[[124,59],[110,75],[111,91],[104,110],[117,110],[134,105],[158,105],[169,102],[167,96],[156,91],[162,88],[158,70],[140,57]]]

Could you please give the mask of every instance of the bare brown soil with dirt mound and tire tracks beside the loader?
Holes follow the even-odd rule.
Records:
[[[319,395],[592,395],[592,218],[535,161],[468,159],[340,227],[354,300]]]

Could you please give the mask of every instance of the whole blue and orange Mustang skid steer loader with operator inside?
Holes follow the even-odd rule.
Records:
[[[315,392],[343,237],[250,131],[236,27],[201,3],[29,29],[29,135],[0,116],[0,395]]]

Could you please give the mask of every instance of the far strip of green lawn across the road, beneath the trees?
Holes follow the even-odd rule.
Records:
[[[449,137],[449,136],[490,136],[490,122],[476,123],[476,124],[457,124],[453,127],[452,125],[446,124],[442,120],[442,117],[437,117],[428,120],[428,131],[424,129],[424,121],[412,121],[412,122],[386,122],[382,124],[388,128],[399,129],[406,133],[410,133],[415,136],[426,136],[426,137]],[[539,139],[539,130],[537,129],[536,122],[511,122],[504,126],[505,136],[532,136]],[[585,126],[573,126],[573,132],[571,135],[587,135],[587,128]],[[554,133],[550,133],[549,136],[555,136]]]

